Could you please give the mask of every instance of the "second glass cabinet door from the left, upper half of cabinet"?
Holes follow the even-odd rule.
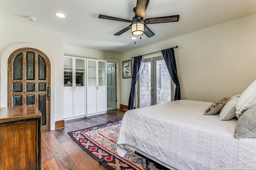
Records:
[[[84,60],[76,59],[76,86],[84,86]]]

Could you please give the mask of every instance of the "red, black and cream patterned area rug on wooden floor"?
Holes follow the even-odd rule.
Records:
[[[134,152],[128,151],[124,158],[116,153],[116,141],[121,121],[107,123],[79,131],[68,132],[68,135],[92,158],[108,170],[144,170],[146,160]],[[157,170],[149,163],[150,170]]]

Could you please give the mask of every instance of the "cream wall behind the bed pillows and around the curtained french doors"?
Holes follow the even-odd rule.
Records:
[[[256,79],[256,14],[121,54],[131,57],[175,47],[181,98],[216,102],[241,94]],[[128,105],[131,78],[121,78]]]

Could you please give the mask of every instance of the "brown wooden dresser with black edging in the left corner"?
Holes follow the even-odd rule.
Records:
[[[41,170],[40,139],[35,105],[0,107],[0,170]]]

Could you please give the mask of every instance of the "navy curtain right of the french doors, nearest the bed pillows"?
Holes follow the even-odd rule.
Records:
[[[176,85],[174,100],[180,100],[180,83],[178,79],[177,66],[174,56],[174,48],[161,50],[164,56],[164,61],[172,78],[172,81]]]

